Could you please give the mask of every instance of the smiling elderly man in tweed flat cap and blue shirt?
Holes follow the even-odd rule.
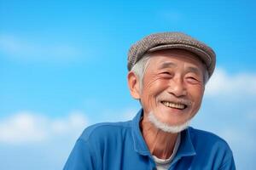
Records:
[[[224,139],[189,127],[215,68],[212,48],[179,32],[149,35],[128,54],[128,122],[84,130],[64,169],[236,169]]]

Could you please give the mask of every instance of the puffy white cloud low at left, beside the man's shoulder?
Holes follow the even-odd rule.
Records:
[[[87,118],[81,111],[73,111],[66,117],[56,119],[20,111],[0,120],[0,143],[27,144],[61,135],[78,135],[86,125]]]

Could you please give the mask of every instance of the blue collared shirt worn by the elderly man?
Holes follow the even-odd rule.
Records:
[[[87,127],[77,140],[64,170],[156,169],[140,131],[143,110],[132,121],[99,123]],[[169,169],[236,169],[232,151],[224,139],[189,127],[181,133],[176,156]]]

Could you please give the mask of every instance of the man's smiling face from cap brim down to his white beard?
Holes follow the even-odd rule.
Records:
[[[161,50],[151,54],[140,96],[145,117],[168,125],[189,121],[201,106],[205,68],[195,54],[185,50]]]

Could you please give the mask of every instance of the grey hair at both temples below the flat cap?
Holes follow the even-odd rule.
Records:
[[[133,65],[133,67],[131,68],[131,71],[135,73],[135,75],[139,80],[140,90],[142,90],[143,88],[143,77],[148,67],[149,60],[150,60],[150,54],[144,54],[142,59],[138,60],[137,63]],[[204,84],[206,85],[209,80],[209,74],[207,71],[207,65],[204,65],[204,67],[205,67],[205,72],[203,75],[203,81],[204,81]]]

